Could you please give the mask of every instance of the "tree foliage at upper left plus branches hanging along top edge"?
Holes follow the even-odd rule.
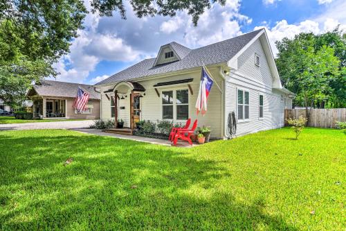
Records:
[[[197,25],[212,3],[226,0],[131,0],[138,17],[174,16],[188,10]],[[125,17],[122,0],[91,0],[92,12]],[[16,104],[33,81],[56,76],[54,62],[69,52],[87,13],[82,0],[0,0],[0,99]]]

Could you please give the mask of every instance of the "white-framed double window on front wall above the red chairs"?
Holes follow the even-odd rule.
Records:
[[[162,119],[185,120],[189,117],[189,91],[177,89],[176,91],[162,92]]]

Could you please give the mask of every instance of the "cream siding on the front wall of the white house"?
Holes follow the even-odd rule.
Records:
[[[218,69],[210,69],[212,72],[212,76],[217,80],[218,84],[222,88],[222,80],[219,76]],[[199,92],[199,82],[201,78],[201,72],[197,71],[190,74],[181,74],[176,76],[167,76],[163,78],[154,78],[151,80],[144,80],[144,81],[138,81],[143,87],[145,87],[145,96],[143,98],[140,98],[140,119],[143,120],[150,120],[157,122],[157,120],[162,120],[162,103],[161,103],[161,91],[162,90],[175,90],[175,89],[188,89],[188,83],[184,83],[181,85],[170,85],[165,87],[158,87],[158,91],[160,92],[160,97],[157,96],[156,91],[153,87],[156,83],[166,82],[166,81],[172,81],[172,80],[181,80],[186,78],[194,78],[194,80],[189,83],[192,87],[193,95],[191,94],[189,90],[189,117],[192,119],[192,123],[194,119],[198,119],[198,126],[210,126],[212,132],[211,137],[215,138],[221,138],[223,136],[222,134],[222,121],[224,121],[223,118],[223,109],[222,109],[222,102],[223,102],[223,96],[216,85],[212,86],[209,98],[208,98],[208,111],[202,117],[201,114],[197,116],[196,109],[194,108],[194,105],[197,100],[197,94]],[[102,87],[102,92],[106,91],[107,89],[111,89],[114,87],[114,85],[109,85],[107,87]],[[121,96],[120,96],[121,97]],[[127,99],[129,99],[129,96],[127,96]],[[120,103],[125,102],[124,100],[120,100]],[[111,112],[110,112],[110,101],[102,94],[102,119],[110,119]],[[120,118],[124,119],[125,115],[122,115],[122,113],[128,114],[129,111],[122,111],[120,110],[119,116]],[[128,116],[129,119],[129,116]],[[124,119],[125,120],[125,119]],[[185,123],[185,121],[175,121],[174,122],[182,122]]]

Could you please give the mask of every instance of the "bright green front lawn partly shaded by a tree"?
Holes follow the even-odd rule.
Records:
[[[292,137],[174,148],[0,132],[0,230],[345,230],[345,134]]]

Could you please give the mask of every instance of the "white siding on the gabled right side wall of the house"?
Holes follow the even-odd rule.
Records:
[[[260,67],[255,65],[255,53],[260,55]],[[273,90],[273,77],[266,61],[266,55],[260,40],[255,41],[238,58],[238,69],[226,80],[225,124],[229,112],[237,116],[237,89],[241,88],[250,94],[250,118],[238,121],[237,135],[244,135],[260,130],[281,128],[284,126],[285,101],[281,94]],[[259,95],[264,96],[264,116],[259,118]]]

